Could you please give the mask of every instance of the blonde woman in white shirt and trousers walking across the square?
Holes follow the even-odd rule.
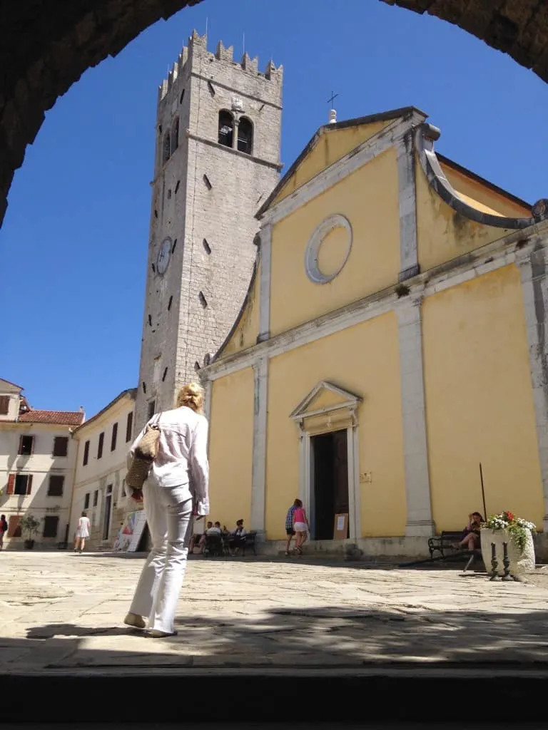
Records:
[[[199,519],[209,513],[208,421],[202,415],[203,402],[203,388],[190,383],[181,388],[177,408],[148,421],[160,429],[158,456],[142,488],[152,550],[124,623],[145,629],[148,618],[148,635],[155,638],[177,633],[175,610],[185,576],[192,516]],[[145,429],[129,450],[129,464]]]

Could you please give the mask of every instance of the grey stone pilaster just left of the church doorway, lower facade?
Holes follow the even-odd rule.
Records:
[[[251,476],[251,529],[265,532],[267,478],[268,358],[254,366],[253,466]]]

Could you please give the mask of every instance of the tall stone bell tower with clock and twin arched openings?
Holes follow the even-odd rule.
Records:
[[[175,404],[229,334],[281,170],[283,69],[189,38],[159,88],[135,429]]]

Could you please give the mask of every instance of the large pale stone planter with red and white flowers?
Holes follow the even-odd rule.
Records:
[[[536,526],[521,517],[516,517],[513,512],[501,512],[500,515],[492,515],[482,525],[482,557],[487,572],[491,570],[492,549],[491,543],[495,543],[497,556],[498,575],[504,574],[503,543],[508,546],[508,557],[510,561],[510,574],[530,572],[535,569],[535,546],[533,545],[533,531]]]

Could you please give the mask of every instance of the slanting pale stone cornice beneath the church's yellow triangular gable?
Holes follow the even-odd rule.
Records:
[[[373,137],[366,139],[365,142],[341,157],[340,160],[319,172],[312,180],[308,180],[308,183],[302,185],[294,193],[273,204],[262,214],[262,220],[269,223],[278,223],[278,221],[283,220],[283,218],[291,215],[295,210],[321,195],[321,193],[332,188],[336,183],[340,183],[340,180],[344,180],[345,177],[386,152],[406,132],[424,120],[423,115],[414,112],[407,119],[399,118],[389,123],[377,134],[373,134]]]

